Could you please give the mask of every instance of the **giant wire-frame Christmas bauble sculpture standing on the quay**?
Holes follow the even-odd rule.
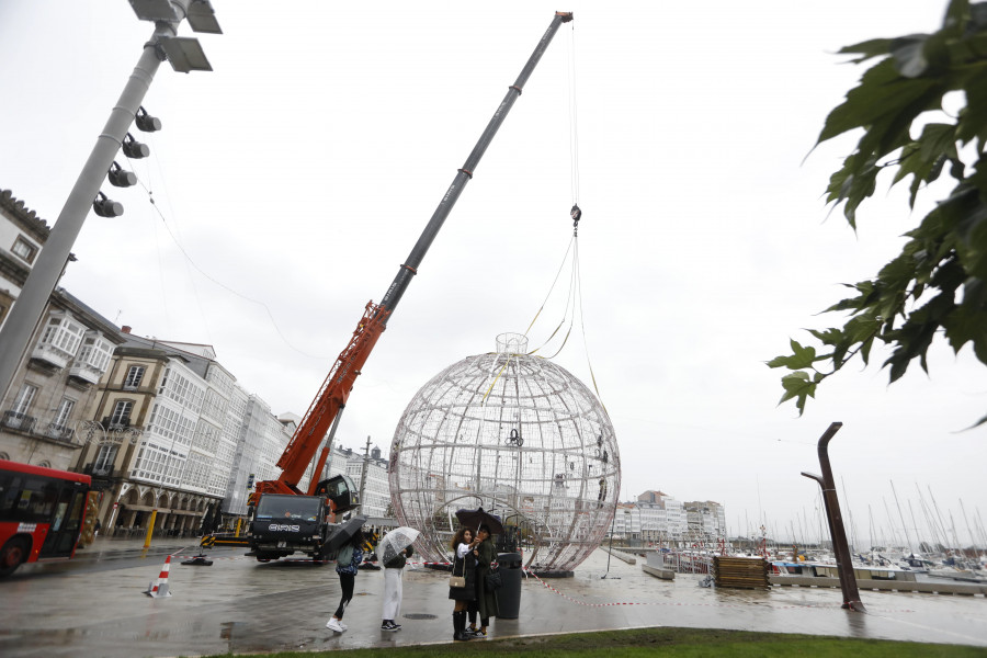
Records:
[[[390,499],[421,531],[426,560],[445,561],[456,510],[501,518],[536,572],[570,572],[610,530],[621,488],[610,418],[565,368],[503,333],[421,387],[390,446]]]

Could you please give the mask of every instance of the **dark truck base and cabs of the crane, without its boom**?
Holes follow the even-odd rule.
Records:
[[[315,496],[261,494],[247,529],[247,555],[258,561],[294,553],[331,559],[326,544],[338,527],[338,515],[355,508],[356,498],[356,487],[345,475],[320,481]]]

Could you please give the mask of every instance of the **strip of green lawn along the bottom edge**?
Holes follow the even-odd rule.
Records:
[[[957,645],[934,645],[878,639],[820,637],[718,631],[703,628],[639,628],[576,633],[515,639],[470,640],[447,645],[389,647],[386,649],[351,649],[334,651],[284,651],[256,655],[256,658],[313,658],[359,656],[370,658],[462,658],[496,654],[498,658],[569,658],[571,656],[606,656],[606,658],[637,658],[643,656],[674,656],[683,658],[729,656],[730,658],[761,658],[763,656],[809,656],[812,658],[934,658],[985,657],[987,648]],[[246,655],[245,655],[246,656]],[[207,657],[218,658],[218,657]],[[251,658],[251,657],[247,657]]]

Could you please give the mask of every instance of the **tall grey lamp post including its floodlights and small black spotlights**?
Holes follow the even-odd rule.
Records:
[[[123,206],[107,200],[100,192],[100,186],[121,149],[132,158],[146,157],[150,152],[145,145],[135,141],[128,131],[137,118],[137,113],[158,67],[164,61],[166,56],[170,56],[175,70],[182,72],[212,70],[198,42],[174,38],[179,24],[189,16],[189,8],[193,1],[201,2],[201,0],[129,0],[137,18],[141,21],[154,22],[155,31],[150,39],[144,44],[144,52],[134,67],[134,72],[127,79],[120,99],[112,105],[110,118],[99,133],[95,146],[83,164],[79,178],[76,179],[76,184],[69,192],[61,213],[48,234],[44,249],[38,253],[16,303],[11,306],[3,326],[0,327],[0,345],[3,345],[3,349],[0,350],[0,402],[9,401],[7,394],[21,364],[27,359],[27,348],[34,330],[42,321],[48,299],[55,286],[58,285],[58,280],[65,271],[65,264],[71,257],[72,246],[82,230],[90,209],[93,208],[97,213],[106,213],[105,216],[118,216],[123,213]],[[205,3],[203,7],[197,7],[194,13],[196,13],[196,23],[200,22],[200,19],[203,21],[200,27],[207,26],[208,16],[212,15],[212,5]],[[216,27],[218,29],[218,25]],[[166,46],[164,44],[168,42],[178,43]],[[194,45],[182,42],[194,42]],[[180,46],[178,50],[181,50],[182,54],[183,64],[180,66],[175,66],[179,53],[169,53],[169,49],[175,50],[175,46]],[[154,123],[150,122],[150,124]],[[140,126],[138,125],[138,127]],[[128,150],[133,150],[133,152],[127,152]],[[125,179],[128,180],[128,177],[118,180]]]

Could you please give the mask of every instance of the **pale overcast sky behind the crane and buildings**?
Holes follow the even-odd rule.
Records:
[[[214,7],[224,34],[198,36],[215,70],[162,65],[145,105],[163,131],[137,135],[147,160],[121,158],[155,204],[105,184],[126,214],[90,215],[63,280],[117,325],[211,343],[275,413],[304,413],[553,12],[574,11],[358,381],[343,445],[386,450],[421,385],[535,315],[571,234],[575,70],[586,345],[622,498],[660,488],[724,503],[733,532],[815,536],[818,487],[798,474],[841,421],[830,454],[861,543],[890,540],[887,510],[903,536],[892,481],[908,525],[932,497],[961,538],[961,500],[987,520],[987,430],[960,431],[987,393],[968,351],[937,347],[931,377],[890,387],[846,368],[803,418],[764,365],[840,322],[815,314],[934,200],[910,214],[885,181],[854,235],[822,202],[854,140],[803,160],[862,72],[833,53],[935,30],[944,2]],[[0,188],[54,223],[151,31],[125,0],[0,2]],[[581,336],[556,362],[590,384]]]

